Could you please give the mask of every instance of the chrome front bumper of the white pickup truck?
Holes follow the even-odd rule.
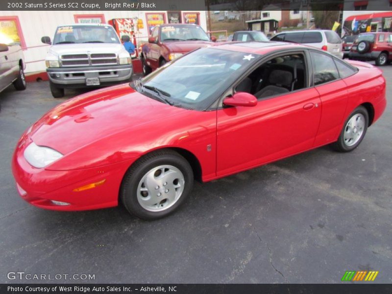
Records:
[[[60,88],[86,87],[86,78],[99,78],[99,86],[106,86],[130,80],[132,64],[48,68],[47,73],[49,80]]]

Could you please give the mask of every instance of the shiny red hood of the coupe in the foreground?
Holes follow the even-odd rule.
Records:
[[[185,112],[134,91],[128,84],[75,97],[33,124],[30,137],[62,154],[133,127]]]

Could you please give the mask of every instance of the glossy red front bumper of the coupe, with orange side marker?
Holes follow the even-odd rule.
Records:
[[[28,139],[23,139],[18,143],[11,163],[17,190],[25,201],[40,208],[62,211],[92,210],[118,205],[123,176],[136,158],[90,169],[37,169],[29,165],[23,154],[29,142]],[[103,179],[104,184],[96,188],[73,191]],[[59,205],[52,200],[69,204]]]

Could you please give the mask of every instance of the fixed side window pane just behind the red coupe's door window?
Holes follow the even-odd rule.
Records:
[[[313,64],[313,83],[315,86],[339,78],[338,70],[331,56],[311,51]]]

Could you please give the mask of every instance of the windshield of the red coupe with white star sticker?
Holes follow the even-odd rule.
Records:
[[[154,88],[170,104],[205,110],[261,55],[223,49],[203,48],[174,60],[133,87],[147,96],[157,96]],[[164,94],[162,94],[164,93]]]

